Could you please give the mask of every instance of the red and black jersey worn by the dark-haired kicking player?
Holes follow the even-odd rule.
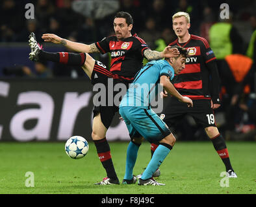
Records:
[[[110,52],[110,71],[125,79],[133,79],[143,66],[144,50],[149,49],[146,42],[136,34],[118,41],[116,36],[96,42],[101,54]]]

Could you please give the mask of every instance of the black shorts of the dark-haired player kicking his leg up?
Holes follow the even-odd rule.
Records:
[[[92,71],[91,82],[92,85],[94,85],[94,89],[96,89],[97,83],[100,83],[98,85],[99,87],[103,87],[103,85],[105,86],[105,91],[101,92],[103,96],[94,100],[93,113],[94,117],[99,113],[101,114],[101,122],[108,129],[114,118],[114,114],[119,111],[119,104],[131,81],[122,80],[118,75],[112,74],[103,63],[96,61]],[[119,89],[118,87],[119,90],[114,91],[114,87],[118,83],[123,83],[123,88]],[[97,95],[96,91],[94,91],[94,93],[96,93],[94,95]],[[117,97],[116,99],[115,96]]]

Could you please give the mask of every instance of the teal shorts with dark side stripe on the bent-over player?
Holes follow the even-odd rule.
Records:
[[[150,143],[159,142],[171,134],[168,126],[152,109],[124,106],[120,107],[119,113],[125,121],[131,140],[143,136]]]

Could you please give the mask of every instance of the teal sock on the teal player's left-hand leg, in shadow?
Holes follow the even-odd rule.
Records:
[[[137,159],[138,155],[138,148],[140,145],[136,145],[133,142],[129,143],[127,148],[127,155],[126,155],[126,164],[125,164],[125,177],[126,180],[133,179],[133,168]]]

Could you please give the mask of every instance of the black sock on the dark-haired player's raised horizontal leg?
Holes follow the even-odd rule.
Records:
[[[64,63],[66,65],[83,66],[86,60],[86,53],[73,52],[45,52],[40,50],[38,54],[40,60],[53,61],[56,63]]]

